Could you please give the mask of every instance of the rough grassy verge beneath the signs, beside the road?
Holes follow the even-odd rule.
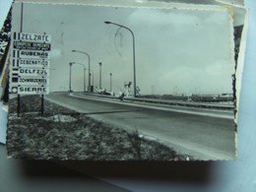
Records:
[[[38,96],[22,97],[20,117],[16,98],[10,100],[9,111],[7,149],[13,158],[191,160],[137,130],[129,133],[47,100],[41,115]]]

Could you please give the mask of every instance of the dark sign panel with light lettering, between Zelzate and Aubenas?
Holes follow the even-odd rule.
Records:
[[[50,50],[50,43],[45,42],[29,42],[29,41],[14,41],[13,47],[16,49],[25,50]]]

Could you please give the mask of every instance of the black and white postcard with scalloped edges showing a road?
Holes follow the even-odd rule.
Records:
[[[9,157],[236,158],[232,13],[159,4],[13,4]]]

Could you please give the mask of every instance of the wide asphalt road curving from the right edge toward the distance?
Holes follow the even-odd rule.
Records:
[[[200,160],[235,157],[232,111],[121,102],[79,93],[54,93],[45,97],[113,126],[130,131],[138,129],[145,137]]]

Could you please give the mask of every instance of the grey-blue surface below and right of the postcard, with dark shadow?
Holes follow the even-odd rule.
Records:
[[[122,188],[132,191],[256,191],[256,2],[246,0],[245,5],[250,7],[251,16],[239,105],[237,160],[62,161],[60,165],[60,162],[7,159],[5,146],[1,145],[0,191],[125,191]]]

